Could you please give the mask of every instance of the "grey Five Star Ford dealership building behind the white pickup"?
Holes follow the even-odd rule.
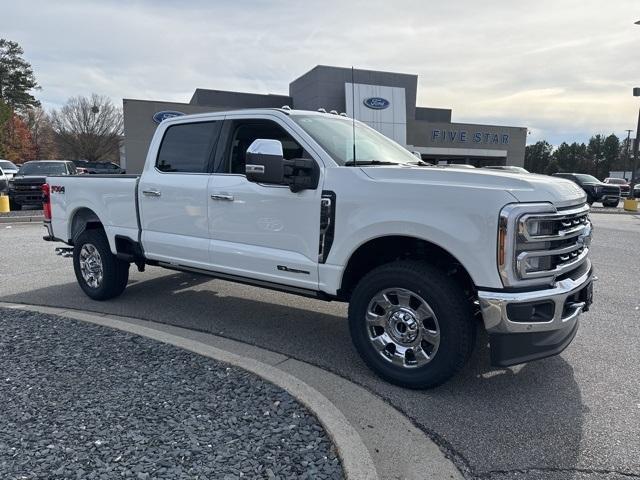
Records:
[[[126,168],[142,171],[167,116],[285,105],[345,112],[431,163],[524,165],[525,127],[452,122],[450,109],[417,106],[417,89],[417,75],[318,65],[289,84],[289,95],[198,88],[189,103],[124,99]]]

